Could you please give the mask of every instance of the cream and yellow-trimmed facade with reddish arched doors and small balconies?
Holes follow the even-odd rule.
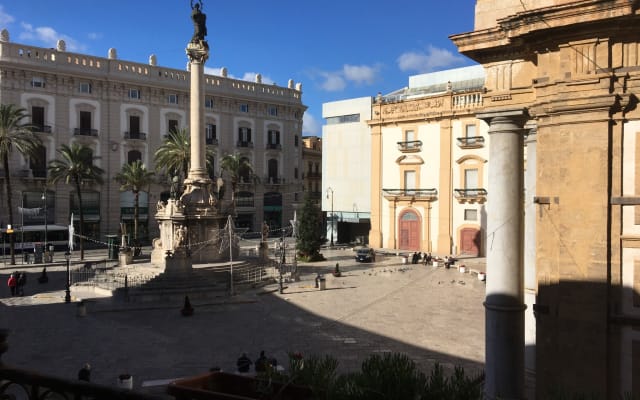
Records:
[[[370,246],[484,255],[484,81],[481,66],[421,74],[374,99]]]

